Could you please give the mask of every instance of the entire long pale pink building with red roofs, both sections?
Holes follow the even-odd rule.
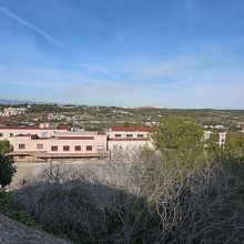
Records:
[[[149,144],[148,129],[112,128],[106,132],[75,131],[68,126],[0,126],[0,140],[8,140],[14,161],[109,157],[114,151]]]

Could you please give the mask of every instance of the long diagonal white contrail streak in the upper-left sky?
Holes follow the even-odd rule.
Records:
[[[40,28],[35,27],[34,24],[23,20],[22,18],[18,17],[17,14],[10,12],[9,10],[2,8],[0,6],[0,12],[3,13],[4,16],[16,20],[17,22],[19,22],[20,24],[28,27],[29,29],[31,29],[32,31],[41,34],[43,38],[45,38],[48,41],[50,41],[52,44],[57,45],[57,47],[61,47],[61,44],[53,39],[51,35],[49,35],[45,31],[41,30]]]

